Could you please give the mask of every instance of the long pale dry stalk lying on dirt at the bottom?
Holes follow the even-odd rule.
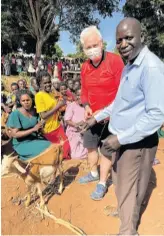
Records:
[[[79,229],[78,227],[70,224],[69,222],[57,218],[54,215],[50,214],[48,211],[45,211],[39,207],[36,207],[37,210],[39,210],[41,213],[43,213],[44,215],[50,217],[51,219],[53,219],[57,224],[63,225],[66,228],[70,229],[73,233],[77,234],[77,235],[86,235],[81,229]]]

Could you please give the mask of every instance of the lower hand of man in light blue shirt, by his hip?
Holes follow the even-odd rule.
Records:
[[[116,151],[121,146],[118,141],[117,135],[110,135],[103,141],[103,143],[104,148],[108,150],[113,149]]]

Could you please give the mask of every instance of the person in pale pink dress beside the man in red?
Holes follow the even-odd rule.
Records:
[[[71,158],[82,159],[87,157],[87,149],[83,147],[83,140],[77,132],[77,124],[84,119],[84,108],[80,101],[80,89],[76,91],[76,101],[70,103],[65,112],[65,122],[67,124],[66,135],[71,147]]]

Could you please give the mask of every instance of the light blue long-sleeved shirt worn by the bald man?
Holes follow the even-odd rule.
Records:
[[[125,66],[114,103],[95,119],[109,116],[109,131],[122,145],[150,136],[163,124],[164,63],[147,46],[132,65]]]

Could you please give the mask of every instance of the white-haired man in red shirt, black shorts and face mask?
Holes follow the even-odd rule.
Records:
[[[81,101],[85,107],[85,119],[112,104],[120,84],[124,63],[119,55],[105,52],[101,33],[95,26],[84,29],[80,40],[88,60],[81,68]],[[106,181],[111,161],[101,154],[100,177],[97,170],[98,148],[109,136],[108,121],[97,123],[83,134],[84,147],[88,149],[90,172],[79,179],[85,184],[100,180],[91,194],[93,200],[100,200],[107,192]]]

